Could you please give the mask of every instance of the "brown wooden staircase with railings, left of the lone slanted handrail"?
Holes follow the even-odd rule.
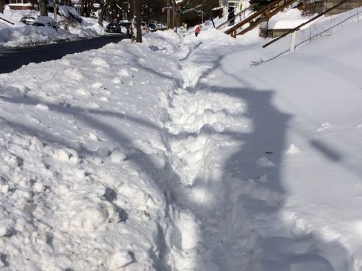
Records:
[[[254,12],[248,18],[243,19],[243,21],[226,30],[225,34],[231,34],[231,36],[234,38],[236,38],[237,35],[245,34],[253,28],[256,28],[259,23],[262,23],[263,21],[269,21],[269,19],[276,13],[283,10],[284,8],[288,8],[288,6],[292,5],[292,3],[295,3],[296,1],[299,0],[274,0],[264,8],[261,8],[261,10]],[[247,23],[250,23],[250,26],[244,28],[240,32],[237,32],[239,28],[242,28]]]

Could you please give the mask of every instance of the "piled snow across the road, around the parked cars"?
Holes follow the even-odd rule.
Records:
[[[49,13],[48,15],[54,18],[54,14]],[[39,12],[6,8],[3,14],[0,13],[0,46],[34,46],[41,43],[89,39],[105,33],[104,28],[99,26],[97,19],[82,18],[81,23],[72,22],[68,25],[67,30],[63,29],[62,26],[56,31],[53,28],[26,26],[20,21],[24,16],[36,18],[39,16]],[[64,20],[60,15],[57,16],[59,23]]]

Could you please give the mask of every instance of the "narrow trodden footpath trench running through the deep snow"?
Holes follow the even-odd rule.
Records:
[[[279,174],[278,167],[270,161],[266,154],[270,149],[260,138],[270,127],[258,127],[255,122],[271,114],[270,119],[283,124],[284,117],[270,106],[269,92],[261,92],[254,100],[265,106],[265,112],[258,116],[250,113],[257,106],[251,90],[232,93],[208,86],[207,77],[218,59],[210,58],[210,52],[199,47],[202,43],[179,52],[183,86],[168,101],[171,120],[165,123],[172,166],[183,187],[175,190],[172,198],[182,210],[190,211],[183,217],[187,222],[177,225],[181,248],[189,251],[184,257],[190,269],[250,268],[261,260],[255,250],[259,234],[265,225],[274,223],[281,202],[280,188],[268,187],[270,177]],[[202,52],[208,61],[200,65],[198,54]],[[280,140],[276,143],[281,145],[283,127],[275,128],[279,133],[275,137]],[[250,205],[259,210],[248,213]]]

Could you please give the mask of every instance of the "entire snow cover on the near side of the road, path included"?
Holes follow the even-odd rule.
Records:
[[[210,29],[1,74],[0,267],[361,270],[357,20],[267,63],[288,39]]]

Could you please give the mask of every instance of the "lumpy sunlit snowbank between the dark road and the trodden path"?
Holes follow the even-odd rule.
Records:
[[[172,240],[194,222],[166,189],[159,97],[179,72],[161,36],[153,51],[125,41],[1,74],[7,270],[162,270],[181,254]]]

